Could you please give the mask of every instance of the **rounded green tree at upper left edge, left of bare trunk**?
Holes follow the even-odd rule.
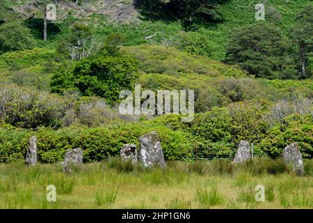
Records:
[[[9,51],[32,49],[35,45],[29,29],[18,23],[0,26],[0,54]]]

